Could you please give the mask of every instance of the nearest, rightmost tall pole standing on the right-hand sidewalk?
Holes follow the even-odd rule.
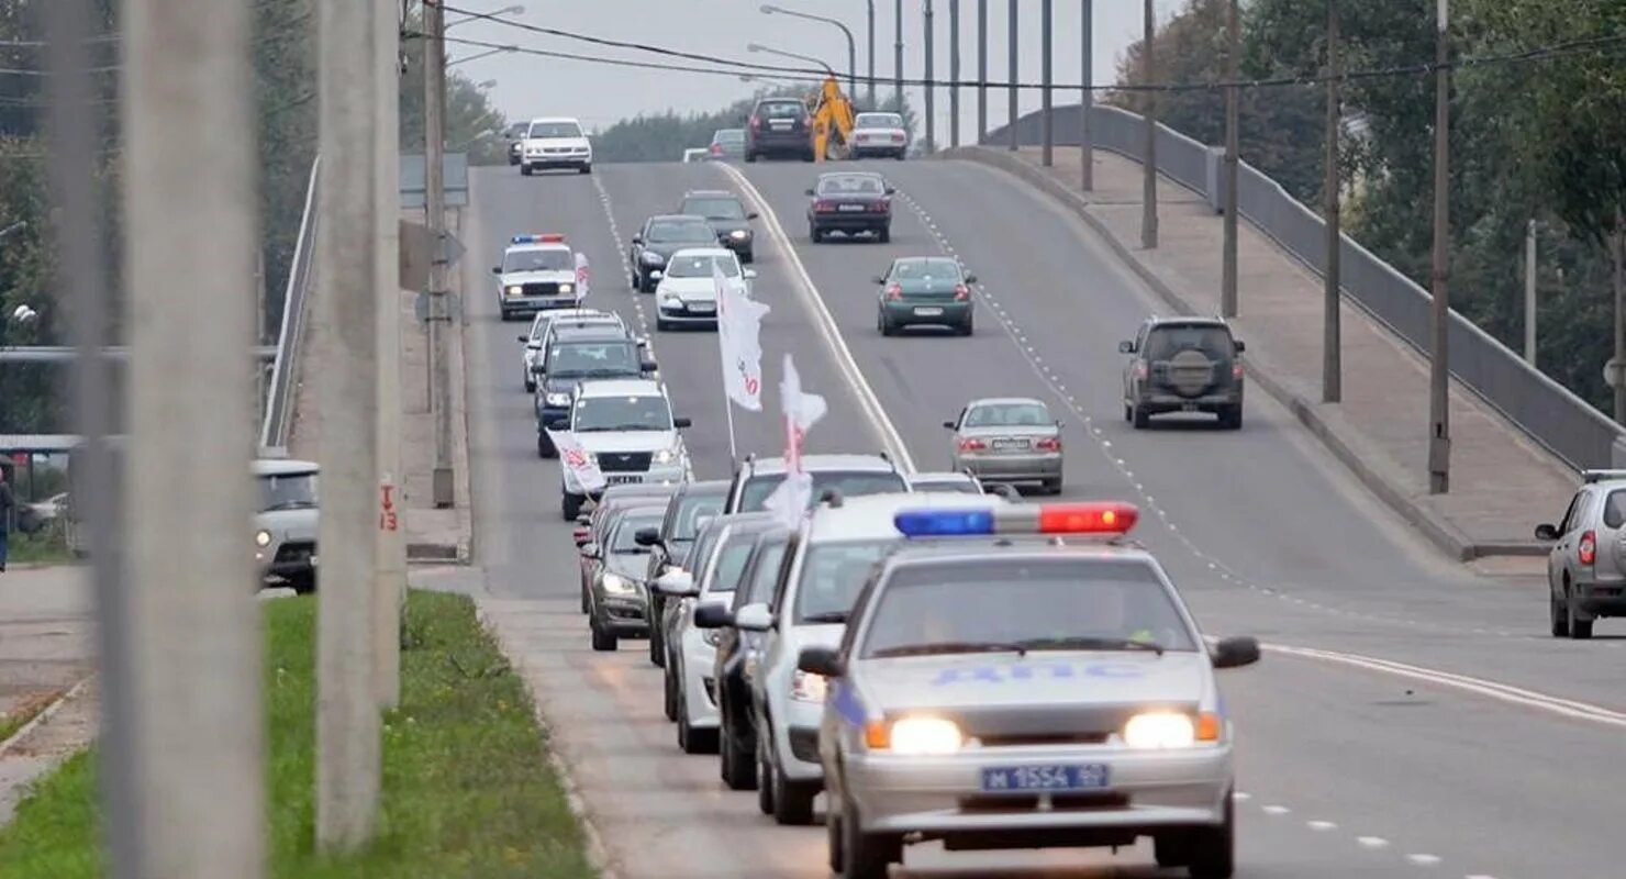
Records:
[[[1434,19],[1434,302],[1429,309],[1429,494],[1450,491],[1450,10]],[[1619,400],[1619,392],[1616,392]]]

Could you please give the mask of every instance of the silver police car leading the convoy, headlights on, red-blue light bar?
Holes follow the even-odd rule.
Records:
[[[1233,726],[1215,669],[1257,661],[1259,643],[1205,647],[1156,559],[1119,539],[1137,517],[937,499],[894,515],[906,546],[875,569],[841,643],[797,661],[828,681],[818,752],[844,876],[886,876],[906,842],[1137,837],[1161,868],[1231,876]]]

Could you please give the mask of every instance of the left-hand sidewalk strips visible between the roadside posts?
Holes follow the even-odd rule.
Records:
[[[423,211],[403,211],[411,221],[421,221]],[[462,232],[462,211],[449,211],[449,231]],[[450,273],[452,294],[460,296],[462,273]],[[294,383],[293,429],[288,452],[302,460],[317,460],[320,448],[320,411],[317,387],[324,372],[320,343],[324,327],[319,318],[320,284],[311,288],[312,309],[306,322],[301,348],[299,375]],[[408,562],[468,562],[470,559],[470,502],[468,502],[468,419],[467,388],[463,379],[463,323],[455,320],[447,340],[452,374],[452,471],[455,474],[454,505],[449,510],[434,509],[431,473],[434,468],[434,419],[429,414],[429,340],[424,325],[415,315],[416,291],[402,291],[400,307],[400,390],[402,390],[402,507],[406,528]]]

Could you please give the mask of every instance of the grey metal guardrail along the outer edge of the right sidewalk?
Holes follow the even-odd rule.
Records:
[[[1078,106],[1055,107],[1052,120],[1057,145],[1076,146]],[[1037,146],[1042,112],[1016,120],[1021,145]],[[1140,161],[1145,120],[1132,112],[1096,106],[1089,115],[1091,138],[1099,149]],[[1010,143],[1008,128],[984,135],[982,143],[998,148]],[[1224,210],[1220,184],[1224,151],[1202,145],[1163,123],[1158,125],[1158,171],[1202,195],[1215,213]],[[1319,213],[1288,195],[1281,184],[1241,162],[1237,171],[1239,216],[1268,236],[1317,275],[1325,271],[1325,224]],[[1341,244],[1341,284],[1363,310],[1389,327],[1423,356],[1429,348],[1429,291],[1379,260],[1348,236]],[[1246,292],[1244,292],[1246,296]],[[1626,429],[1533,369],[1459,312],[1450,312],[1450,372],[1485,403],[1519,426],[1532,440],[1576,470],[1613,466],[1616,444],[1626,444]]]

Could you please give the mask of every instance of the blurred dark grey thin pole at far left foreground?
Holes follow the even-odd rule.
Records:
[[[143,851],[148,840],[143,834],[146,791],[138,785],[137,767],[141,751],[137,747],[137,730],[141,725],[143,705],[137,697],[135,647],[138,634],[130,616],[125,565],[122,559],[122,491],[115,478],[112,455],[106,437],[119,432],[112,424],[114,383],[102,349],[109,344],[109,325],[114,279],[107,257],[101,247],[102,206],[98,203],[94,180],[98,172],[96,143],[98,119],[89,57],[93,16],[89,0],[55,0],[44,3],[46,32],[50,42],[49,71],[46,80],[50,96],[49,136],[54,145],[49,153],[52,203],[60,210],[55,240],[57,271],[55,294],[59,302],[70,304],[72,336],[78,357],[73,361],[73,424],[83,437],[78,460],[73,466],[73,507],[85,526],[89,549],[89,577],[96,596],[96,637],[101,655],[101,734],[96,754],[96,782],[101,788],[99,816],[102,827],[102,855],[111,879],[141,879],[141,869],[150,864]],[[148,21],[154,10],[138,10],[132,16]],[[236,10],[228,10],[228,13]],[[231,24],[228,18],[224,26]],[[127,26],[135,21],[125,19]],[[141,31],[151,47],[151,37],[163,28],[145,24]],[[153,55],[140,58],[146,67]],[[132,63],[137,58],[128,58]],[[138,68],[140,68],[138,67]],[[135,84],[132,81],[132,84]],[[130,93],[127,91],[127,96]],[[150,88],[141,91],[143,101],[151,101]],[[156,128],[150,135],[161,135]],[[161,151],[159,151],[161,154]],[[128,177],[127,177],[128,182]],[[184,190],[185,192],[185,190]],[[0,231],[10,232],[13,226]],[[161,229],[151,229],[161,231]],[[154,292],[151,288],[148,292]],[[182,544],[185,548],[185,544]],[[252,678],[249,679],[252,686]],[[148,707],[150,708],[150,707]],[[259,705],[255,704],[255,710]],[[233,842],[244,842],[252,832],[249,817],[242,814],[242,799],[252,799],[254,790],[228,790],[228,814],[241,817],[241,824],[226,827]],[[158,803],[151,803],[156,806]],[[174,845],[171,827],[159,845]],[[254,845],[249,838],[246,845]],[[252,856],[254,851],[249,851]],[[233,861],[228,869],[239,863]],[[211,864],[213,866],[213,864]],[[153,873],[146,873],[151,876]],[[193,873],[192,876],[198,876]],[[250,877],[259,873],[250,873]]]

